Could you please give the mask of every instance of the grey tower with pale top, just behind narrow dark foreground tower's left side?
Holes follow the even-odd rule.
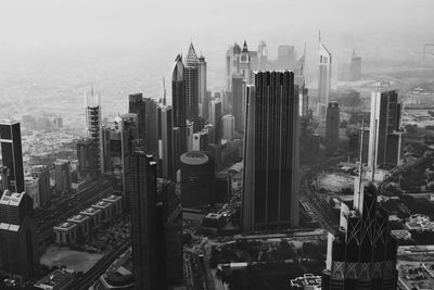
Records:
[[[129,201],[129,157],[132,153],[132,140],[138,139],[137,114],[128,113],[115,118],[112,133],[112,172],[115,178],[114,189],[123,191],[124,200]],[[156,126],[156,125],[155,125]]]

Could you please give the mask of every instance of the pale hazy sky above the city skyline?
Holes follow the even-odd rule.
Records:
[[[433,15],[433,0],[1,0],[0,46],[227,47],[304,42],[319,28],[330,38],[392,31],[434,41]]]

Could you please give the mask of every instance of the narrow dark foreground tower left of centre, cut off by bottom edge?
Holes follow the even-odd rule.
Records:
[[[132,268],[136,289],[158,287],[156,240],[156,163],[137,148],[130,155]],[[162,242],[162,241],[159,241]]]

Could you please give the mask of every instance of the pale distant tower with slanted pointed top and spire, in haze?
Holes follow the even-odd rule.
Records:
[[[329,103],[330,86],[332,80],[332,54],[321,42],[319,35],[319,63],[318,63],[318,102],[322,105]]]

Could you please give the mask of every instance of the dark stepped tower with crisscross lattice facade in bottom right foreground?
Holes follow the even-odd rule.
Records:
[[[397,242],[375,187],[363,182],[353,207],[341,203],[340,230],[329,234],[321,289],[397,289]]]

